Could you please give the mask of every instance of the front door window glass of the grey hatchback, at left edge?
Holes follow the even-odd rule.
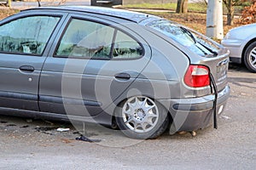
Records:
[[[30,16],[0,26],[0,51],[13,54],[43,54],[60,17]]]

